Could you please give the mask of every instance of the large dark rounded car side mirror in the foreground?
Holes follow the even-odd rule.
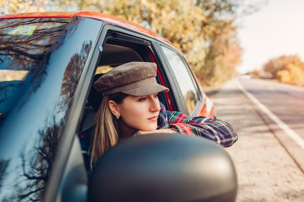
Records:
[[[205,138],[142,135],[121,141],[94,166],[89,202],[235,202],[236,171]]]

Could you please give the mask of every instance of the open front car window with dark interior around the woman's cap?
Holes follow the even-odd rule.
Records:
[[[122,33],[108,31],[105,43],[102,46],[102,53],[97,65],[93,83],[100,78],[102,74],[107,73],[118,65],[135,61],[156,62],[151,42],[127,36]],[[157,82],[166,85],[162,78],[163,75],[160,74],[161,70],[159,70],[159,68],[160,67],[158,66]],[[165,93],[159,93],[159,99],[168,107],[168,99]],[[80,131],[87,129],[94,124],[95,114],[99,109],[101,101],[102,94],[98,93],[94,87],[91,86],[84,109]]]

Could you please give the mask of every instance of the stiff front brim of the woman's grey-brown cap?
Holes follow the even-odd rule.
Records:
[[[146,86],[140,86],[137,88],[121,91],[121,93],[126,93],[134,96],[147,96],[159,92],[168,92],[168,91],[169,88],[162,86],[158,83],[154,83]]]

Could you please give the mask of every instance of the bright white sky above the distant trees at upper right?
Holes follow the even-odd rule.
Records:
[[[241,18],[240,24],[239,73],[259,70],[282,55],[298,55],[304,62],[304,0],[268,0],[259,11]]]

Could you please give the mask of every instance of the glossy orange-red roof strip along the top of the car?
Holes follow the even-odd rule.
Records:
[[[128,20],[116,17],[116,16],[111,16],[103,13],[98,13],[98,12],[93,12],[93,11],[81,11],[81,12],[36,12],[36,13],[19,13],[19,14],[0,14],[0,19],[13,19],[13,18],[34,18],[34,17],[64,17],[64,18],[73,18],[76,16],[81,16],[81,17],[89,17],[93,19],[99,19],[103,20],[109,23],[113,23],[115,25],[119,25],[121,27],[143,33],[145,35],[148,35],[150,37],[156,38],[159,41],[165,42],[167,44],[170,44],[171,46],[172,43],[164,38],[163,36],[152,32],[138,24],[135,24],[133,22],[130,22]]]

